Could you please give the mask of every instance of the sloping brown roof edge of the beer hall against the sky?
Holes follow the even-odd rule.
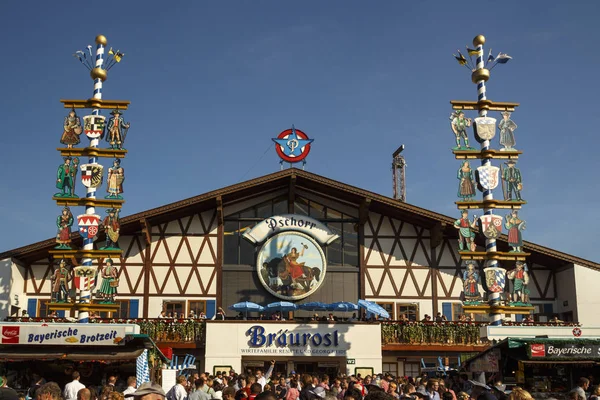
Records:
[[[179,200],[173,203],[165,204],[160,207],[151,208],[146,211],[141,211],[139,213],[135,213],[132,215],[125,216],[121,218],[121,225],[130,224],[136,221],[140,221],[142,219],[152,218],[158,215],[163,215],[167,212],[183,209],[185,207],[189,207],[194,204],[199,204],[204,201],[208,201],[211,199],[216,199],[219,196],[226,196],[231,193],[239,192],[244,189],[252,188],[255,186],[276,182],[277,180],[281,180],[287,177],[302,177],[308,180],[312,180],[313,182],[320,183],[326,186],[330,186],[333,188],[337,188],[339,190],[352,193],[359,197],[367,198],[379,202],[381,204],[385,204],[391,206],[393,208],[401,209],[403,211],[407,211],[409,213],[415,213],[420,216],[433,219],[440,223],[445,224],[453,224],[456,218],[449,217],[444,214],[437,213],[435,211],[427,210],[425,208],[421,208],[412,204],[400,202],[396,199],[393,199],[388,196],[384,196],[378,193],[374,193],[365,189],[358,188],[356,186],[352,186],[340,181],[336,181],[331,178],[324,177],[322,175],[315,174],[314,172],[308,172],[297,168],[288,168],[282,171],[277,171],[268,175],[263,175],[254,179],[250,179],[244,182],[236,183],[233,185],[225,186],[220,189],[215,189],[197,196],[189,197],[187,199]],[[77,237],[79,233],[74,232],[73,235]],[[506,241],[507,236],[505,234],[500,236],[500,239]],[[46,247],[52,247],[55,244],[55,239],[50,238],[47,240],[43,240],[40,242],[32,243],[26,246],[18,247],[12,250],[8,250],[0,253],[0,259],[5,259],[8,257],[15,257],[20,254],[33,252],[36,250],[40,250]],[[525,248],[528,250],[544,254],[550,257],[558,258],[564,260],[568,263],[573,263],[577,265],[582,265],[584,267],[600,270],[600,264],[586,260],[571,254],[563,253],[558,250],[551,249],[546,246],[538,245],[532,242],[523,241]]]

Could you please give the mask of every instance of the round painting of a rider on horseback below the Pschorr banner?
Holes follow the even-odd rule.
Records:
[[[261,283],[284,300],[299,300],[314,293],[325,279],[326,268],[321,246],[300,232],[277,234],[258,253]]]

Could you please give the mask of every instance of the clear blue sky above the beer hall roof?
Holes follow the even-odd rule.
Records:
[[[451,216],[449,101],[476,99],[452,53],[482,33],[514,58],[488,98],[521,103],[524,238],[600,261],[600,2],[101,4],[1,7],[0,250],[55,235],[59,99],[92,96],[71,55],[99,33],[126,53],[103,90],[132,102],[122,215],[279,170],[267,149],[293,123],[315,139],[307,170],[390,196],[405,144],[408,202]]]

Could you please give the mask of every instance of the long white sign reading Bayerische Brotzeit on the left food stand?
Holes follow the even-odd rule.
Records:
[[[114,346],[122,344],[128,334],[139,333],[137,325],[126,324],[10,324],[0,325],[0,344],[25,345],[97,345]]]

